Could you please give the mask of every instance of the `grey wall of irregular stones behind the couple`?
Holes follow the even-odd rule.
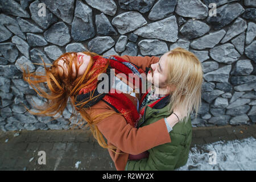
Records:
[[[216,15],[210,16],[216,3]],[[39,3],[44,3],[40,6]],[[160,56],[183,47],[204,68],[202,106],[193,127],[256,122],[256,1],[0,1],[0,128],[69,129],[72,106],[49,121],[26,112],[44,100],[23,81],[20,64],[43,70],[64,52]],[[44,11],[45,10],[45,11]],[[214,13],[214,11],[212,11]],[[45,16],[39,16],[45,15]],[[88,49],[87,49],[88,48]]]

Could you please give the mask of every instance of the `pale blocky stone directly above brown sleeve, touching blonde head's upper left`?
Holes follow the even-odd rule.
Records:
[[[143,56],[145,55],[163,55],[168,52],[167,44],[157,39],[141,40],[138,43]]]

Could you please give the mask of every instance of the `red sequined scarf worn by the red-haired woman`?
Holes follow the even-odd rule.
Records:
[[[91,71],[95,71],[91,78],[94,79],[88,86],[82,88],[79,94],[87,94],[90,92],[94,92],[97,90],[97,76],[98,74],[103,72],[103,69],[106,67],[106,64],[110,62],[110,67],[114,69],[115,73],[124,73],[126,77],[129,77],[129,73],[143,73],[144,71],[141,68],[138,68],[136,65],[130,63],[129,61],[123,60],[117,56],[109,56],[108,58],[102,56],[94,56],[93,60],[95,60],[92,65]],[[106,71],[105,71],[106,72]],[[104,73],[105,73],[104,72]],[[134,82],[133,82],[134,84]],[[140,79],[139,89],[141,91],[142,83]],[[119,113],[123,114],[127,123],[129,123],[133,127],[137,127],[139,119],[141,119],[142,115],[138,113],[137,108],[131,102],[129,98],[125,96],[123,93],[117,93],[117,91],[113,88],[110,89],[110,92],[105,94],[103,98],[101,98],[107,104],[113,106]]]

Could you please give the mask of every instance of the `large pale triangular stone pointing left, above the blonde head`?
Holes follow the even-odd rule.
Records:
[[[171,16],[169,18],[147,24],[146,26],[134,31],[134,34],[148,39],[160,39],[168,42],[176,42],[177,32],[178,27],[176,17]]]

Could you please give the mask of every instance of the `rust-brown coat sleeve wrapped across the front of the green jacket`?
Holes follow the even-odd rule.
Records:
[[[97,114],[108,111],[110,109],[97,109]],[[127,154],[141,154],[150,148],[171,142],[164,119],[137,129],[127,124],[122,115],[114,113],[98,122],[97,127],[108,142]]]

